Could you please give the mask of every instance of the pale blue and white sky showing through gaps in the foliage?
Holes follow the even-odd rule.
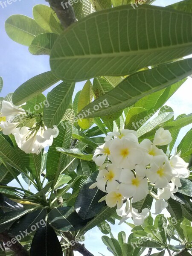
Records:
[[[154,4],[157,6],[166,6],[176,2],[179,2],[179,0],[157,0]],[[49,56],[31,55],[28,51],[28,47],[22,46],[12,41],[6,35],[4,29],[4,23],[6,19],[11,15],[23,14],[32,17],[32,7],[36,4],[47,4],[47,2],[45,2],[45,0],[16,0],[11,5],[4,7],[4,9],[2,6],[0,6],[0,76],[3,77],[4,81],[3,90],[0,93],[0,96],[6,96],[8,93],[14,92],[17,87],[19,87],[28,79],[50,70]],[[76,92],[81,90],[83,85],[83,82],[76,84]],[[188,79],[166,103],[166,105],[169,105],[173,108],[175,116],[178,116],[182,113],[189,114],[192,112],[191,85],[192,79]],[[178,143],[186,131],[188,131],[191,127],[192,125],[188,125],[182,129]],[[168,216],[168,212],[166,210],[164,213]],[[118,226],[118,221],[116,225],[111,225],[111,228],[114,237],[117,237],[117,234],[122,230],[124,230],[128,235],[131,231],[131,228],[126,224]],[[87,239],[84,241],[85,247],[95,256],[99,256],[99,252],[105,256],[112,255],[108,252],[105,245],[102,243],[102,233],[98,228],[94,228],[88,232],[86,236]],[[145,254],[146,253],[143,255]],[[79,256],[81,254],[75,253],[74,255]],[[168,253],[165,254],[165,256],[168,255]]]

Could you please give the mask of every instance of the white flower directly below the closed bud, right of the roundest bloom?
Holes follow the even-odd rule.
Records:
[[[156,157],[163,156],[166,158],[162,149],[157,148],[151,143],[151,140],[145,139],[140,143],[140,148],[143,150],[143,164],[146,166],[152,161],[155,161]]]

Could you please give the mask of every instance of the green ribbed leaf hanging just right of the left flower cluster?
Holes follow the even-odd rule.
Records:
[[[75,83],[62,82],[49,93],[49,107],[44,107],[44,123],[48,128],[61,121],[70,104],[74,88]]]

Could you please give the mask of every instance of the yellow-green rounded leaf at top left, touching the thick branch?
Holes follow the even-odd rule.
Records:
[[[63,29],[54,16],[54,11],[49,6],[43,4],[34,6],[33,17],[45,31],[58,35],[63,32]]]

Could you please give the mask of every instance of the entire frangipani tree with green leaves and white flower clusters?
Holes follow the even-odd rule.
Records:
[[[91,256],[84,234],[129,218],[128,240],[101,229],[113,255],[191,255],[192,130],[177,138],[192,114],[165,103],[192,74],[192,1],[152,2],[49,0],[6,20],[51,71],[0,98],[2,255]]]

